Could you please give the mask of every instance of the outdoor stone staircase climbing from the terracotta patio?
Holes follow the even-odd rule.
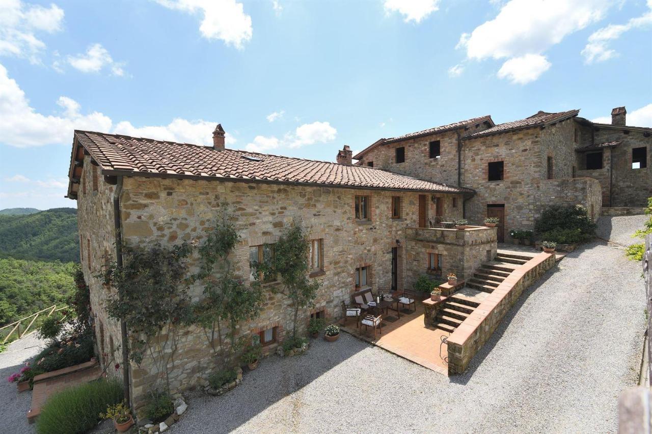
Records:
[[[494,261],[483,263],[475,270],[473,277],[466,281],[464,288],[443,302],[437,311],[434,323],[436,328],[454,332],[512,271],[533,257],[534,254],[498,250]]]

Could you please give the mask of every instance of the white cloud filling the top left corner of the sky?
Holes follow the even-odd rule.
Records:
[[[60,31],[63,16],[63,9],[54,4],[46,8],[20,0],[0,1],[0,55],[26,57],[38,63],[45,43],[35,32]]]

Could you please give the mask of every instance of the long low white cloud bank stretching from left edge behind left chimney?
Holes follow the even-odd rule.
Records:
[[[73,130],[115,132],[154,139],[212,145],[211,133],[216,122],[173,119],[164,126],[136,127],[123,121],[113,128],[110,117],[94,111],[80,113],[80,104],[67,96],[59,97],[57,105],[63,109],[59,115],[43,115],[29,105],[29,100],[16,80],[8,76],[0,65],[0,142],[14,147],[35,147],[55,143],[69,144]],[[226,144],[235,138],[226,134]]]

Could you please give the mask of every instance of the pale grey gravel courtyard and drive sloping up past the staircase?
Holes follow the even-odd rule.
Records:
[[[629,244],[644,220],[601,218],[599,233]],[[594,241],[524,292],[465,375],[343,334],[264,360],[225,396],[192,397],[171,432],[615,432],[617,397],[638,381],[644,308],[640,265]]]

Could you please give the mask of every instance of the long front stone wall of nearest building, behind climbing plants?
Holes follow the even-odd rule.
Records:
[[[354,197],[371,196],[371,221],[357,222]],[[391,219],[391,197],[402,197],[402,219]],[[418,223],[418,194],[285,186],[245,182],[179,181],[173,179],[126,178],[122,198],[123,236],[128,244],[154,242],[177,244],[201,240],[213,224],[218,203],[227,200],[236,207],[237,230],[241,243],[231,255],[235,272],[248,280],[249,247],[275,242],[293,218],[301,218],[314,239],[323,239],[324,274],[316,306],[300,312],[303,332],[313,311],[324,310],[327,317],[341,316],[341,302],[349,302],[355,291],[355,268],[370,266],[374,291],[391,286],[391,249],[398,246],[398,286],[404,282],[407,226]],[[462,198],[458,197],[461,203]],[[399,243],[396,243],[399,240]],[[190,272],[197,265],[190,259]],[[271,283],[270,285],[274,285]],[[271,288],[271,287],[270,287]],[[201,297],[200,285],[190,289]],[[241,334],[256,333],[273,326],[280,336],[292,325],[291,307],[281,295],[267,294],[261,316],[241,325]],[[175,363],[171,369],[173,392],[201,384],[215,369],[209,343],[198,328],[182,330],[178,336]],[[151,362],[133,367],[134,397],[143,396],[155,378]]]

